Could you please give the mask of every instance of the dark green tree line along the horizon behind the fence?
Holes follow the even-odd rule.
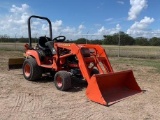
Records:
[[[7,35],[0,35],[0,42],[21,42],[28,43],[28,38],[10,38]],[[32,38],[33,43],[37,43],[37,38]],[[113,35],[103,35],[103,39],[89,40],[86,38],[79,38],[77,40],[66,40],[68,43],[77,43],[77,44],[103,44],[103,45],[140,45],[140,46],[160,46],[160,38],[153,37],[147,39],[144,37],[133,38],[128,34],[120,31]]]

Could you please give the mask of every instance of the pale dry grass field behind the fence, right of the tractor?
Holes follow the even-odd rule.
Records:
[[[108,56],[128,57],[128,58],[146,58],[160,59],[160,47],[156,46],[108,46],[104,45]],[[120,49],[120,50],[119,50]]]

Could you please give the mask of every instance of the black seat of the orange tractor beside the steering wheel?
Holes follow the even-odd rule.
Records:
[[[45,36],[39,37],[38,40],[39,48],[41,48],[42,50],[49,49],[48,46],[45,45],[45,43],[48,41],[51,41],[51,39],[48,37],[47,38]]]

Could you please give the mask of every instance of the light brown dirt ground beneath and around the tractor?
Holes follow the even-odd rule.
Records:
[[[160,73],[152,67],[113,64],[116,71],[132,69],[144,93],[109,107],[91,102],[86,85],[58,91],[51,77],[39,82],[24,79],[22,70],[7,70],[7,60],[16,53],[0,53],[0,120],[159,120]],[[110,58],[113,61],[113,58]]]

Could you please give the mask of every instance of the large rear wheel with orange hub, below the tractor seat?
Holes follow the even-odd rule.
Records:
[[[24,61],[22,70],[26,80],[35,81],[42,77],[42,68],[38,66],[36,60],[32,57]]]

